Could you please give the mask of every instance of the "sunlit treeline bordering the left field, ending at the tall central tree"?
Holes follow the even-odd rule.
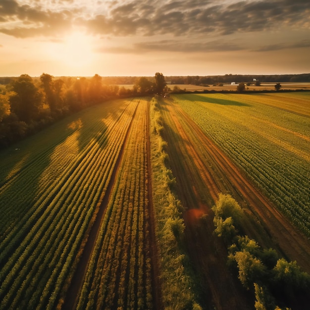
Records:
[[[0,147],[41,130],[55,120],[93,104],[115,98],[161,94],[165,79],[161,73],[153,78],[135,78],[131,88],[114,83],[98,74],[91,78],[61,77],[43,73],[39,78],[22,74],[17,78],[1,78]],[[130,80],[133,82],[132,80]],[[127,81],[128,82],[128,81]]]

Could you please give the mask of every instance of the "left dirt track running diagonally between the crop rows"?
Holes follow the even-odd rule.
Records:
[[[88,267],[90,258],[92,256],[92,253],[93,253],[93,250],[94,250],[94,247],[96,244],[96,240],[98,238],[98,234],[100,231],[100,227],[101,227],[101,224],[103,221],[103,217],[105,214],[105,210],[106,210],[106,207],[108,205],[108,202],[109,202],[109,199],[111,196],[111,192],[112,192],[112,189],[113,189],[114,184],[115,184],[116,176],[118,174],[118,171],[119,171],[119,168],[120,168],[120,165],[122,162],[124,150],[125,150],[126,143],[128,140],[128,136],[129,136],[129,133],[130,133],[130,130],[132,127],[133,120],[135,118],[136,110],[137,110],[137,107],[133,113],[131,122],[128,126],[123,144],[121,146],[120,152],[118,154],[118,157],[117,157],[116,162],[115,162],[115,166],[114,166],[112,174],[111,174],[109,184],[106,188],[105,194],[103,196],[103,200],[102,200],[100,206],[98,207],[98,212],[97,212],[97,214],[95,214],[95,219],[93,220],[93,225],[90,228],[90,232],[89,232],[83,253],[80,257],[77,268],[76,268],[75,273],[72,277],[69,289],[66,293],[64,304],[62,305],[61,309],[64,309],[64,310],[76,309],[76,306],[78,303],[78,298],[80,295],[80,291],[82,289],[85,274],[87,271],[87,267]]]

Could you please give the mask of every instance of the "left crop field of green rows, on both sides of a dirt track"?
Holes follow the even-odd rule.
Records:
[[[93,256],[99,256],[99,265],[94,268],[92,283],[97,285],[101,277],[110,277],[119,270],[122,275],[128,272],[116,287],[121,291],[128,285],[129,291],[126,296],[120,295],[124,291],[118,293],[116,304],[122,298],[127,300],[127,295],[130,302],[139,300],[141,308],[152,303],[145,223],[148,221],[146,112],[147,101],[140,99],[104,104],[83,111],[72,122],[58,124],[46,135],[41,134],[40,141],[34,137],[33,145],[29,141],[27,147],[21,143],[16,150],[4,154],[0,189],[1,309],[38,305],[41,309],[53,309],[59,301],[62,303],[62,289],[67,285],[81,245],[86,242],[95,214],[105,207],[103,197],[112,177],[116,178],[117,186],[112,191],[98,238],[99,242],[105,236],[104,246],[95,246]],[[136,136],[141,140],[135,140]],[[119,165],[127,137],[129,145],[122,171],[115,176],[113,171]],[[109,242],[108,236],[114,239]],[[106,274],[100,275],[104,254],[109,257],[105,261],[109,269],[104,265]],[[88,270],[92,267],[91,263]],[[135,276],[139,280],[133,284],[130,281]],[[106,294],[111,298],[110,293],[115,293],[113,285],[110,280],[111,291],[105,293],[101,286],[98,299]],[[112,302],[113,298],[106,303]]]

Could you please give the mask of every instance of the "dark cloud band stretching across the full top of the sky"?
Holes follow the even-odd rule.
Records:
[[[52,36],[78,24],[103,35],[191,36],[264,31],[284,25],[310,27],[309,0],[244,0],[232,4],[200,0],[103,1],[92,17],[87,17],[82,7],[69,7],[74,4],[72,1],[62,1],[67,9],[58,11],[43,8],[37,1],[33,3],[30,6],[16,0],[0,0],[0,32],[15,37]]]

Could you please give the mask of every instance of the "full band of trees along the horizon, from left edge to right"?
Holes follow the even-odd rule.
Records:
[[[40,77],[22,74],[19,77],[0,77],[0,147],[4,148],[26,136],[34,134],[66,115],[102,103],[103,101],[148,95],[186,93],[182,84],[207,87],[223,83],[239,83],[236,91],[260,83],[309,82],[310,74],[287,75],[235,75],[223,76],[167,76],[156,72],[155,77],[53,77],[42,73]],[[125,87],[131,85],[131,88]],[[174,86],[173,86],[174,85]],[[286,90],[287,91],[287,90]],[[223,92],[203,90],[203,93]],[[228,93],[229,91],[224,91]],[[248,93],[263,92],[251,90]],[[268,90],[268,92],[272,92]],[[199,91],[195,91],[199,93]]]

